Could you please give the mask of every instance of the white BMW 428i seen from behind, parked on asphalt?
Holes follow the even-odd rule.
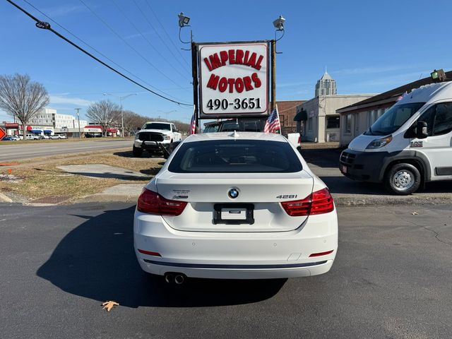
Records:
[[[290,278],[328,272],[338,218],[326,185],[279,134],[186,138],[138,198],[136,256],[148,273]]]

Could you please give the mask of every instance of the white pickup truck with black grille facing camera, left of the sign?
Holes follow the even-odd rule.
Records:
[[[133,156],[141,157],[143,150],[151,154],[160,154],[162,150],[168,148],[172,143],[182,141],[182,134],[176,126],[170,122],[148,121],[141,130],[136,132],[133,142]]]

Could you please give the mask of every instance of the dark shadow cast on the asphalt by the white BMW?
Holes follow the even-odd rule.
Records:
[[[189,279],[167,285],[162,277],[144,273],[133,250],[134,206],[106,210],[61,240],[38,270],[40,278],[73,295],[126,307],[206,307],[259,302],[285,284],[278,280]]]

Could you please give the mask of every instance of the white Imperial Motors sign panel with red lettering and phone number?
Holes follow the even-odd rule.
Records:
[[[200,116],[268,114],[268,42],[198,44]]]

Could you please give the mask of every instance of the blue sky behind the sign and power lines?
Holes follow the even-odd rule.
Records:
[[[433,69],[451,69],[451,28],[444,14],[452,11],[449,0],[28,1],[124,69],[182,102],[192,102],[192,90],[191,55],[180,49],[188,45],[178,37],[180,11],[191,18],[196,42],[273,39],[272,21],[283,15],[277,100],[313,97],[325,66],[339,94],[381,93],[429,76]],[[16,2],[49,21],[25,1]],[[90,102],[106,98],[103,93],[112,93],[109,98],[116,102],[119,96],[137,93],[124,100],[125,109],[189,121],[190,107],[143,92],[51,32],[35,28],[30,18],[6,1],[0,2],[0,18],[0,73],[28,73],[47,88],[49,107],[66,114],[81,107],[83,117]],[[189,40],[189,28],[182,30],[182,40]],[[0,121],[4,120],[11,119],[0,112]]]

